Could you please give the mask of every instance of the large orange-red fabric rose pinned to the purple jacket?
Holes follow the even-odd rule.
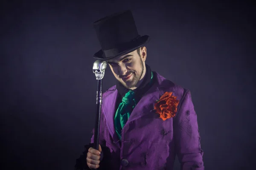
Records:
[[[176,115],[178,104],[177,96],[172,96],[172,92],[165,92],[155,103],[154,110],[160,114],[161,119],[166,120]]]

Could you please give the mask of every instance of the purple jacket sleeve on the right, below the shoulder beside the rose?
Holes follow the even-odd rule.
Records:
[[[204,170],[197,115],[189,90],[184,91],[173,121],[175,150],[181,170]]]

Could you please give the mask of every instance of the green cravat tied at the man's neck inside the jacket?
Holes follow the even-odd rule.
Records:
[[[153,79],[153,72],[151,72],[151,83]],[[122,128],[124,127],[125,123],[128,121],[131,112],[133,111],[134,107],[137,105],[137,100],[135,99],[135,93],[132,90],[129,90],[125,96],[122,98],[122,102],[119,104],[117,110],[116,110],[116,115],[114,118],[114,124],[115,124],[115,130],[117,133],[117,136],[119,139],[121,139],[121,131]]]

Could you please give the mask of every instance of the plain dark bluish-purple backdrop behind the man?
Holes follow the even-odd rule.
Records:
[[[139,33],[151,36],[146,63],[192,92],[206,170],[253,169],[253,3],[4,0],[4,170],[73,169],[94,126],[97,84],[92,56],[100,46],[92,23],[125,9],[133,11]],[[114,83],[108,68],[103,90]]]

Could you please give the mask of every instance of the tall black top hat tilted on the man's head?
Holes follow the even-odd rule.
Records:
[[[104,17],[93,23],[101,50],[95,59],[113,59],[128,54],[149,41],[149,36],[140,36],[130,10]]]

